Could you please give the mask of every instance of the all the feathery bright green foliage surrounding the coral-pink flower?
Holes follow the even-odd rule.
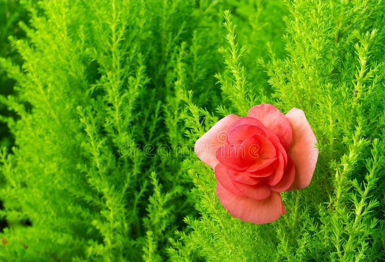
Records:
[[[1,261],[385,261],[382,0],[2,7]],[[254,225],[192,147],[263,102],[304,110],[320,156]]]

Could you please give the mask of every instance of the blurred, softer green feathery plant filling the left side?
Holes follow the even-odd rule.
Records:
[[[223,10],[239,10],[247,33],[255,22],[282,24],[248,17],[265,7],[286,12],[257,2],[23,3],[26,37],[10,37],[23,66],[0,60],[17,81],[15,95],[0,96],[17,114],[0,118],[15,137],[1,154],[0,216],[9,225],[1,259],[167,259],[168,239],[198,214],[186,155],[159,150],[193,143],[184,136],[185,90],[209,110],[222,103],[214,74],[224,68]],[[261,27],[249,41],[259,36],[280,34]]]

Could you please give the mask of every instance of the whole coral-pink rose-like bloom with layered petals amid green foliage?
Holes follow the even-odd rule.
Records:
[[[269,104],[247,117],[228,115],[195,143],[214,169],[223,207],[245,222],[264,224],[286,214],[280,192],[310,184],[318,159],[316,137],[298,108],[286,115]]]

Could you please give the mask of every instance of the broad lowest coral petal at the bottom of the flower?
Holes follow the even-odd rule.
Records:
[[[234,195],[220,183],[217,183],[216,193],[224,209],[233,217],[237,217],[244,222],[265,224],[273,222],[281,214],[285,214],[285,207],[278,192],[271,192],[266,199],[255,200]]]

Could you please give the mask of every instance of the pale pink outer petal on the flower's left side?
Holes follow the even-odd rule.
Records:
[[[227,144],[228,128],[240,117],[238,115],[227,115],[219,120],[210,130],[195,142],[195,154],[211,168],[218,164],[216,159],[216,150],[224,144]]]

